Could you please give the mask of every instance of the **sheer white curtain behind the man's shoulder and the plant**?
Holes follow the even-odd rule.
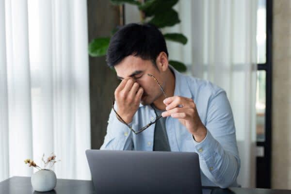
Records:
[[[169,58],[184,62],[187,74],[226,90],[241,157],[238,183],[256,180],[256,0],[179,0],[181,23],[162,32],[181,32],[186,45],[167,41]],[[125,7],[126,23],[139,22],[134,6]]]

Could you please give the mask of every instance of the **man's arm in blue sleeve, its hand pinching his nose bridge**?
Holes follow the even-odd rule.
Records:
[[[124,79],[114,92],[114,109],[124,122],[131,125],[133,115],[139,108],[144,89],[133,79]],[[100,149],[132,150],[131,131],[111,110],[107,126],[107,134]]]

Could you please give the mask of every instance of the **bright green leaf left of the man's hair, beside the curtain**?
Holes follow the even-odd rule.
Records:
[[[108,46],[109,46],[110,38],[96,38],[89,43],[89,55],[91,57],[100,57],[106,55]]]

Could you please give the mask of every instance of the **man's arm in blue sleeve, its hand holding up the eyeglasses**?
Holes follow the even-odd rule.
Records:
[[[222,188],[230,186],[240,170],[235,127],[230,104],[223,90],[209,99],[204,126],[191,98],[168,97],[164,101],[166,112],[162,116],[178,118],[193,137],[199,154],[202,172]]]

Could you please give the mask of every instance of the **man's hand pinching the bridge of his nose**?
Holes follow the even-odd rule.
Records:
[[[138,110],[144,89],[133,79],[124,79],[114,92],[117,113],[129,124]]]

